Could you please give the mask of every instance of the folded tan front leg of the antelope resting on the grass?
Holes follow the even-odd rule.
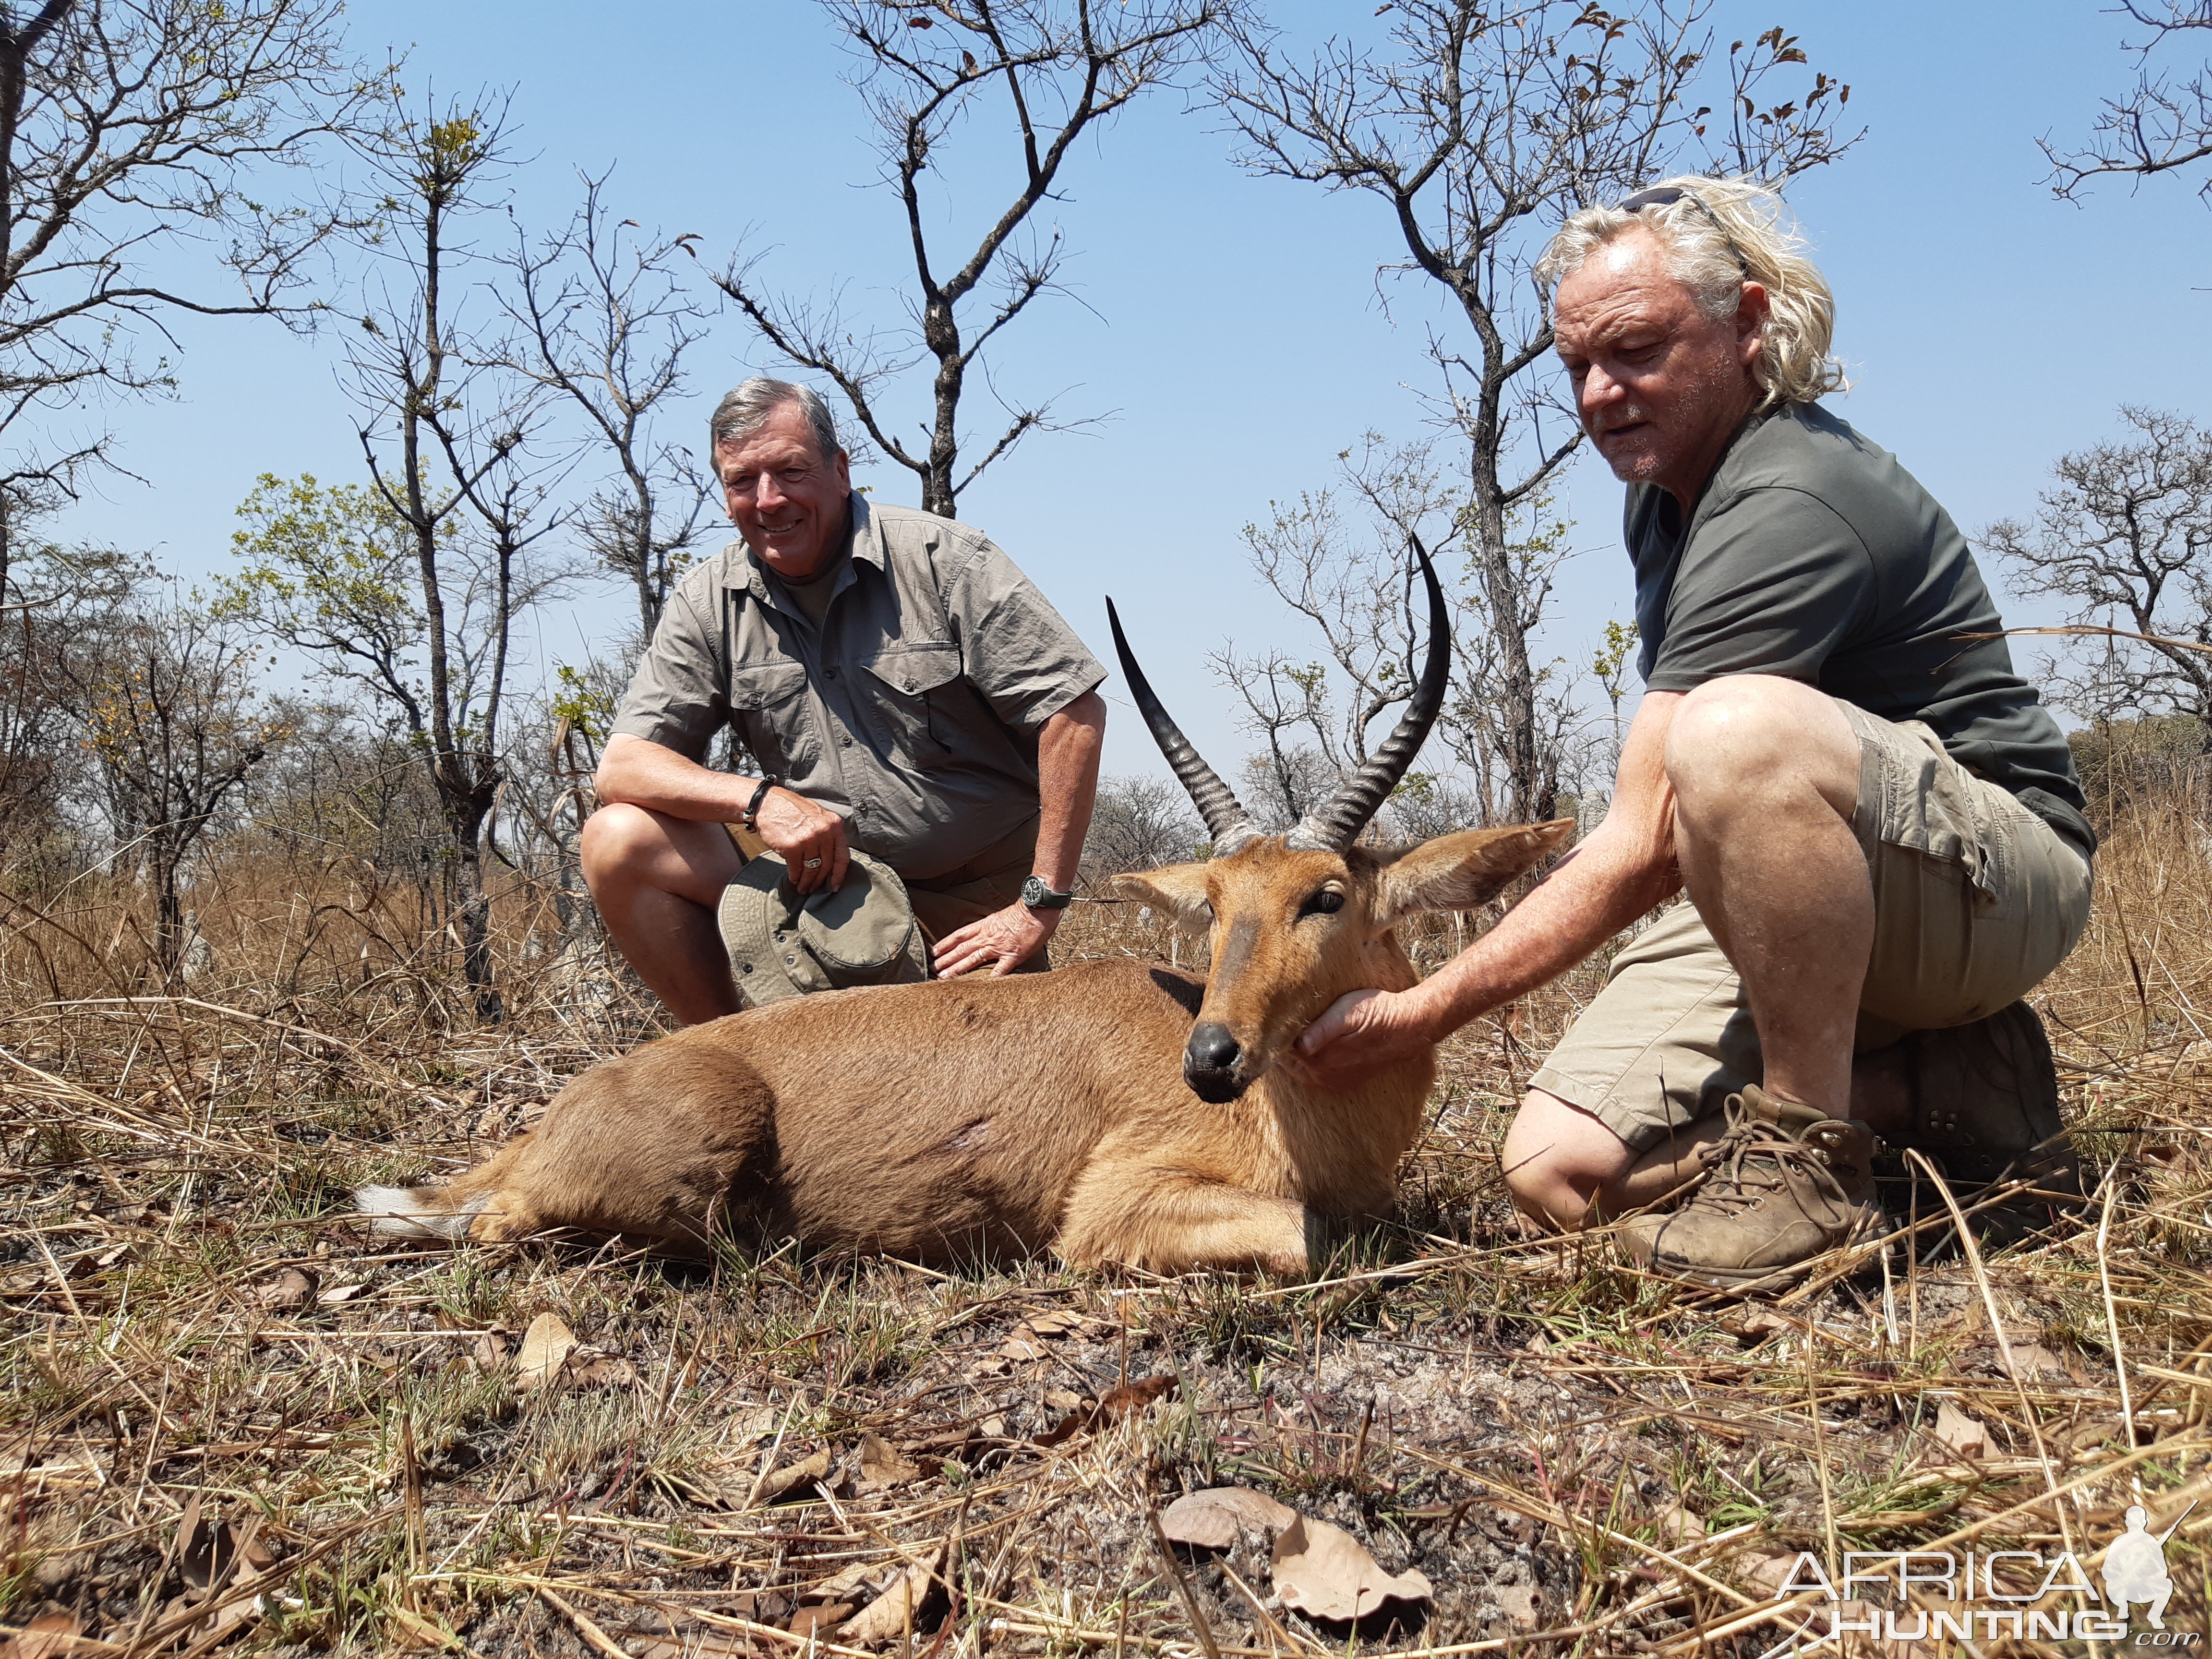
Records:
[[[1307,1272],[1307,1210],[1203,1170],[1104,1157],[1075,1183],[1057,1250],[1071,1267],[1261,1267],[1296,1279]]]

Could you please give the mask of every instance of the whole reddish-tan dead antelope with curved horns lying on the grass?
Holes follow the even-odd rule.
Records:
[[[792,998],[595,1066],[542,1128],[447,1186],[356,1201],[398,1234],[588,1228],[699,1248],[737,1225],[914,1261],[1051,1245],[1077,1267],[1305,1272],[1332,1225],[1389,1214],[1436,1064],[1327,1093],[1283,1055],[1345,991],[1416,982],[1400,918],[1480,905],[1573,827],[1354,845],[1444,699],[1444,595],[1416,555],[1420,686],[1376,757],[1285,836],[1254,830],[1113,617],[1128,690],[1214,838],[1210,863],[1115,887],[1206,929],[1210,978],[1106,960]]]

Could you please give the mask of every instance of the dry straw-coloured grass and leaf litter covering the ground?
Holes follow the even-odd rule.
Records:
[[[2212,1491],[2197,836],[2179,807],[2121,827],[2048,989],[2088,1221],[1978,1272],[1922,1183],[1918,1243],[1750,1318],[1511,1221],[1500,1108],[1588,971],[1449,1046],[1398,1228],[1321,1283],[677,1267],[396,1250],[345,1206],[476,1157],[644,1035],[635,1000],[518,960],[513,1018],[471,1029],[438,964],[361,949],[374,896],[343,883],[232,883],[212,978],[170,995],[111,975],[128,920],[73,889],[0,940],[0,1626],[82,1632],[18,1652],[781,1655],[810,1606],[896,1579],[874,1635],[814,1648],[1754,1655],[1785,1628],[1745,1610],[1801,1548],[2070,1546],[2095,1573],[2126,1504],[2163,1528]],[[520,936],[524,896],[502,918]],[[1168,953],[1117,907],[1062,945]],[[584,1347],[531,1385],[542,1314]],[[1931,1433],[1944,1402],[1980,1455]],[[1150,1515],[1232,1482],[1433,1601],[1310,1621],[1259,1535],[1170,1568]],[[2168,1546],[2174,1630],[2205,1630],[2208,1528]]]

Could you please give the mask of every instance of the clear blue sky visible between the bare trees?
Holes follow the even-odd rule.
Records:
[[[1318,38],[1371,27],[1371,11],[1281,4],[1276,15]],[[1725,44],[1772,22],[1851,84],[1849,111],[1869,128],[1792,188],[1858,383],[1836,407],[1969,535],[2028,511],[2048,462],[2104,436],[2119,403],[2212,416],[2212,215],[2194,181],[2106,188],[2086,208],[2039,184],[2035,137],[2084,133],[2097,97],[2128,80],[2112,13],[2088,0],[1723,4],[1714,27]],[[847,60],[810,4],[354,0],[352,29],[363,46],[407,49],[411,86],[513,88],[524,221],[557,223],[573,168],[613,164],[619,210],[699,232],[710,263],[750,234],[785,285],[838,285],[856,314],[891,316],[883,272],[900,270],[900,226],[872,184]],[[1022,394],[1064,387],[1068,414],[1110,418],[1033,438],[960,515],[1013,553],[1102,657],[1113,593],[1170,708],[1228,770],[1250,743],[1206,650],[1228,635],[1298,646],[1237,531],[1270,500],[1325,484],[1363,431],[1420,431],[1431,310],[1416,288],[1378,290],[1376,268],[1396,254],[1378,201],[1254,179],[1232,166],[1219,126],[1170,95],[1071,164],[1051,223],[1075,250],[1079,303],[1024,316],[998,374]],[[995,206],[1004,179],[998,170],[953,212]],[[1400,303],[1385,310],[1378,294]],[[257,473],[356,478],[358,449],[330,341],[261,323],[188,323],[179,338],[179,398],[113,411],[119,456],[148,482],[106,482],[62,531],[197,575],[228,564],[232,509]],[[734,319],[695,361],[681,438],[703,429],[726,385],[768,365]],[[909,420],[920,407],[916,389]],[[863,478],[878,500],[914,500],[900,469]],[[1553,648],[1586,657],[1601,624],[1630,608],[1619,487],[1582,462],[1564,504],[1582,553]],[[538,657],[573,661],[628,615],[624,593],[584,593],[540,619]],[[2020,602],[2006,615],[2051,619]],[[1159,765],[1126,712],[1106,765]]]

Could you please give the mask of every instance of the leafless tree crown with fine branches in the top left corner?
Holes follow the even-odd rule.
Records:
[[[345,221],[314,181],[387,82],[347,55],[341,0],[0,4],[0,489],[108,458],[51,422],[170,389],[166,319],[314,319]]]

